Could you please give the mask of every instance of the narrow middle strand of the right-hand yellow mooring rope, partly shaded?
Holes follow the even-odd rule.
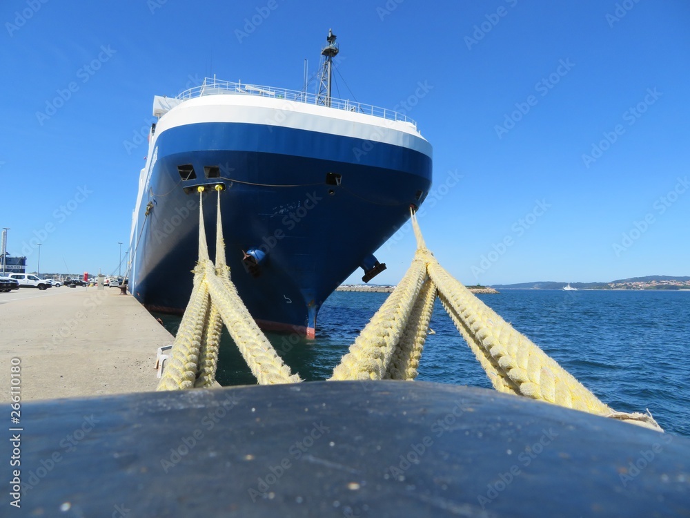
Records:
[[[436,287],[427,278],[384,378],[414,380],[417,377],[435,300]]]

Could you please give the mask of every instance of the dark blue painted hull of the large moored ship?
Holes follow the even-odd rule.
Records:
[[[224,184],[226,256],[239,295],[262,327],[307,336],[324,300],[431,186],[431,158],[413,148],[267,124],[175,126],[152,150],[132,236],[132,294],[152,310],[184,311],[198,256],[196,187]],[[184,180],[179,166],[189,165],[196,178]],[[204,193],[212,259],[217,196]],[[254,269],[243,262],[249,249],[265,253]]]

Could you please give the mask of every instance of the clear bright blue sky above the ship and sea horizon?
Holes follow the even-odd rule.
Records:
[[[8,252],[35,270],[40,240],[42,272],[117,271],[153,95],[213,73],[299,89],[304,59],[315,70],[333,28],[357,100],[393,108],[412,96],[437,193],[420,223],[462,282],[690,274],[687,1],[329,5],[3,2]],[[252,17],[261,23],[246,26]],[[420,83],[428,91],[415,97]],[[69,98],[55,103],[61,90]],[[397,282],[413,251],[410,231],[384,245],[376,282]]]

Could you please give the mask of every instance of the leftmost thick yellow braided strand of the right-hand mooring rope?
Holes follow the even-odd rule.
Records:
[[[382,379],[407,326],[426,277],[422,253],[417,253],[393,293],[371,318],[333,370],[331,380]]]

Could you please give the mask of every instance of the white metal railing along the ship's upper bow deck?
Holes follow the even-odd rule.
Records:
[[[361,102],[351,101],[350,99],[337,99],[335,97],[324,97],[316,95],[315,93],[308,93],[304,90],[289,90],[287,88],[274,88],[273,86],[259,86],[255,84],[242,84],[241,82],[234,83],[231,81],[219,81],[218,79],[206,77],[204,82],[184,90],[177,95],[177,99],[182,101],[192,99],[193,97],[201,97],[204,95],[257,95],[259,97],[272,97],[273,99],[285,99],[287,101],[302,102],[304,104],[317,104],[322,106],[330,106],[337,110],[351,111],[356,113],[364,113],[366,115],[373,115],[374,117],[381,117],[383,119],[408,122],[412,124],[415,129],[417,123],[407,117],[406,115],[397,111],[388,110],[387,108],[380,108],[379,106],[372,106],[371,104],[364,104]]]

